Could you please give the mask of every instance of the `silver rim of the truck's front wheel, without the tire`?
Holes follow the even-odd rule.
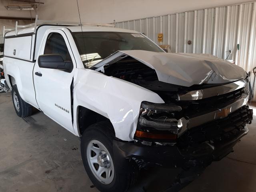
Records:
[[[114,164],[104,144],[91,140],[87,145],[86,156],[95,178],[102,184],[110,184],[114,179]]]

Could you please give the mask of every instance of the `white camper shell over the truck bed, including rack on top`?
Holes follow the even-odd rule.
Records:
[[[50,28],[56,28],[56,26],[80,26],[73,29],[73,31],[81,30],[82,26],[108,26],[114,27],[113,24],[100,24],[100,23],[76,23],[76,22],[62,22],[62,21],[47,21],[38,20],[36,16],[36,22],[34,24],[28,24],[25,26],[19,26],[16,22],[15,30],[6,29],[4,27],[4,40],[8,46],[5,46],[5,56],[23,59],[34,62],[38,56],[38,49],[44,33]],[[84,29],[86,31],[86,29]],[[7,33],[5,33],[7,31]],[[12,46],[10,46],[12,45]],[[14,54],[14,50],[15,52]],[[30,52],[28,51],[30,50]]]

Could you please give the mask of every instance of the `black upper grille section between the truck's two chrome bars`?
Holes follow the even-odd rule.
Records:
[[[205,114],[209,111],[217,110],[218,108],[223,108],[222,106],[227,106],[232,104],[244,93],[244,88],[238,89],[236,91],[226,93],[223,95],[218,95],[210,98],[194,100],[194,101],[178,101],[177,105],[182,106],[185,116],[193,118],[194,116],[199,116]]]

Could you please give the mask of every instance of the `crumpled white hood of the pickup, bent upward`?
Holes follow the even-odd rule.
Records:
[[[245,79],[241,68],[208,54],[158,53],[143,50],[117,51],[94,67],[114,64],[126,56],[156,70],[158,80],[180,86],[220,84]]]

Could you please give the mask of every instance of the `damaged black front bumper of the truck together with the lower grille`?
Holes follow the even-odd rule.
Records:
[[[174,146],[146,146],[114,140],[114,158],[118,164],[133,159],[140,168],[208,166],[233,151],[234,145],[248,133],[246,124],[251,121],[252,110],[242,106],[226,118],[192,128],[178,138]]]

